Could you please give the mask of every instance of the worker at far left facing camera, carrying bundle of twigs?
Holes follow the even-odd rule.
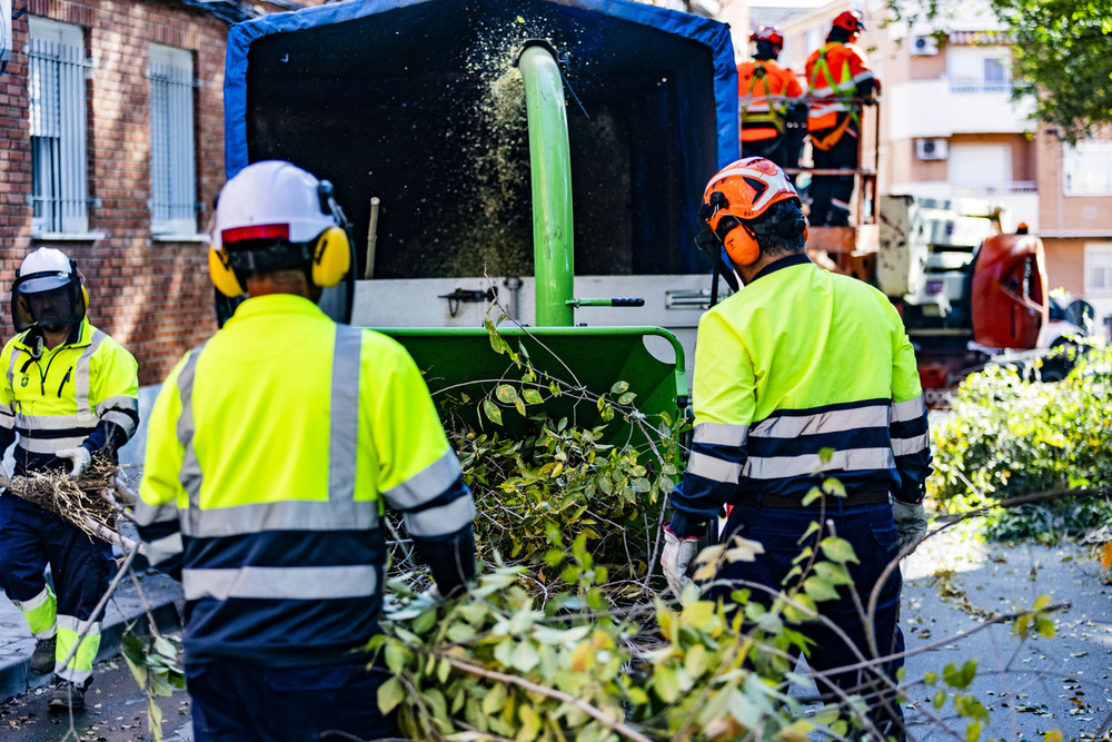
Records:
[[[139,424],[135,357],[89,323],[85,279],[61,250],[28,255],[11,288],[19,333],[0,353],[0,456],[16,444],[13,474],[80,477],[95,461],[115,468]],[[85,706],[100,649],[93,615],[111,577],[107,542],[10,492],[0,496],[0,584],[34,635],[30,670],[53,673],[48,706]],[[44,571],[50,566],[51,587]]]

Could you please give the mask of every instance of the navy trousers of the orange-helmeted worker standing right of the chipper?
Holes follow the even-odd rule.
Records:
[[[853,546],[860,563],[850,563],[846,566],[861,604],[867,606],[868,595],[880,582],[881,573],[898,553],[900,535],[892,518],[892,507],[886,504],[851,507],[838,505],[838,502],[831,503],[823,513],[826,525],[823,527],[822,537],[837,535]],[[817,544],[817,534],[808,536],[802,545],[801,538],[818,518],[817,508],[733,507],[724,532],[726,536],[736,533],[744,538],[758,541],[765,551],[756,556],[755,562],[723,565],[716,576],[712,597],[728,601],[732,588],[726,581],[745,581],[768,587],[772,594],[751,587],[749,600],[765,606],[770,605],[773,595],[785,587],[784,578],[795,566],[793,560],[800,555],[805,545]],[[728,544],[728,541],[726,543]],[[798,575],[792,577],[793,581],[798,578]],[[735,587],[745,586],[735,585]],[[900,631],[901,587],[902,578],[900,570],[896,568],[885,581],[876,602],[873,631],[880,656],[897,654],[904,650],[903,634]],[[865,659],[874,659],[866,637],[865,616],[854,603],[848,586],[840,586],[838,597],[818,603],[817,609],[824,617],[848,636]],[[880,731],[897,740],[904,739],[900,704],[885,691],[885,685],[878,682],[875,671],[833,672],[838,667],[860,662],[854,647],[847,645],[837,632],[822,622],[807,623],[800,631],[815,642],[808,652],[807,664],[816,673],[818,691],[828,693],[831,684],[834,684],[840,689],[861,694],[868,700],[870,719]],[[902,666],[903,659],[897,657],[884,663],[881,672],[895,684],[896,672]]]

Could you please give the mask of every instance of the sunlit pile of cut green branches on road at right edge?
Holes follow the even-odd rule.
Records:
[[[960,513],[1032,493],[1062,493],[990,516],[993,538],[1081,536],[1112,522],[1102,497],[1068,497],[1112,485],[1112,349],[1091,348],[1065,379],[991,366],[967,377],[932,429],[930,494]]]

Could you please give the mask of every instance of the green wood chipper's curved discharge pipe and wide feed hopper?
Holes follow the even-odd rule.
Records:
[[[523,370],[510,354],[536,372],[524,388],[546,398],[545,413],[570,424],[593,427],[608,417],[595,399],[612,402],[634,395],[636,409],[626,425],[610,426],[607,442],[652,438],[661,413],[675,421],[687,406],[687,377],[679,340],[661,327],[575,326],[577,306],[631,306],[636,298],[575,298],[572,245],[572,175],[564,87],[556,50],[546,41],[527,41],[517,67],[525,83],[533,180],[533,236],[536,270],[536,324],[524,327],[377,328],[401,343],[425,372],[435,398],[450,395],[466,422],[490,426],[483,399],[499,399],[500,385],[519,384]],[[500,350],[500,352],[499,352]],[[558,395],[553,390],[560,389]],[[585,399],[583,393],[589,395]],[[516,392],[513,393],[517,397]],[[626,396],[627,399],[631,397]],[[520,417],[512,399],[499,407],[514,429]],[[497,403],[496,403],[497,404]],[[533,414],[532,412],[529,414]],[[627,417],[631,417],[627,415]]]

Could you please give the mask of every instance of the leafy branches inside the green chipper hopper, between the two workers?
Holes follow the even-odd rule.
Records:
[[[540,370],[524,345],[512,347],[489,321],[487,330],[506,376],[479,399],[463,390],[437,399],[476,501],[479,557],[525,565],[543,588],[564,568],[545,560],[549,531],[583,534],[594,558],[623,581],[615,590],[626,600],[651,593],[689,423],[641,413],[627,382],[595,393],[569,369]],[[567,415],[554,419],[554,406]]]

